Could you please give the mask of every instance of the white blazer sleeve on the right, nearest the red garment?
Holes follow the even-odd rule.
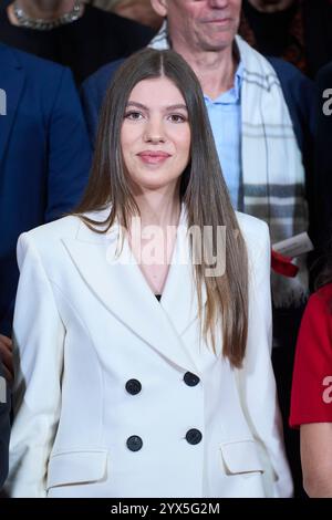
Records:
[[[258,440],[266,468],[267,495],[291,497],[292,479],[288,466],[271,363],[272,320],[268,227],[247,241],[249,262],[249,324],[243,366],[239,371],[242,408]]]

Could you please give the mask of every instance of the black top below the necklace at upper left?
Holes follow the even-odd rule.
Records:
[[[105,63],[128,56],[147,45],[154,33],[134,20],[87,4],[74,23],[51,31],[12,25],[6,10],[0,8],[0,41],[69,66],[77,85]]]

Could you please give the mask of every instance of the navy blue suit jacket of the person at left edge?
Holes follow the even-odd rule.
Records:
[[[77,204],[91,146],[68,69],[0,43],[0,333],[10,335],[18,236]]]

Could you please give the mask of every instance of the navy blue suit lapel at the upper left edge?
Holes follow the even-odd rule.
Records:
[[[7,114],[0,115],[0,164],[24,85],[24,71],[14,53],[0,45],[0,89],[6,92]]]

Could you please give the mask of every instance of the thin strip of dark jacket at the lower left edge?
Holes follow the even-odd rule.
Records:
[[[10,433],[9,410],[9,392],[0,362],[0,489],[8,474],[8,447]]]

